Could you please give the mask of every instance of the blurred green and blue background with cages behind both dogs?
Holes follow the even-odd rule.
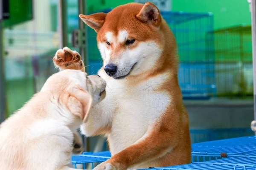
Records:
[[[180,55],[179,83],[192,142],[249,136],[253,67],[247,0],[0,0],[0,120],[40,91],[57,72],[58,48],[79,51],[96,74],[102,59],[96,33],[79,14],[155,3],[172,29]],[[102,137],[84,140],[87,151],[108,150]]]

